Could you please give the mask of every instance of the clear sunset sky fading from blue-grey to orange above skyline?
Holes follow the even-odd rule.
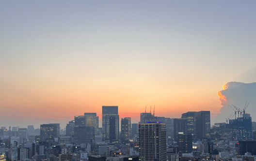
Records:
[[[218,91],[256,66],[255,8],[253,0],[0,1],[0,126],[64,128],[84,112],[101,116],[102,105],[132,122],[145,105],[156,116],[215,118]]]

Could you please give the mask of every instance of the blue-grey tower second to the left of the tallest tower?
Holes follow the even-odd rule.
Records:
[[[86,128],[84,116],[75,116],[74,141],[75,144],[86,143]]]

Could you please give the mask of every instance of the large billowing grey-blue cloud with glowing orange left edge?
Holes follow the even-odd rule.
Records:
[[[246,101],[250,102],[250,105],[245,112],[251,114],[252,119],[256,120],[256,82],[228,82],[224,84],[223,90],[219,91],[218,95],[220,96],[219,100],[223,107],[214,122],[225,122],[226,118],[234,114],[234,111],[228,104],[234,104],[242,110]]]

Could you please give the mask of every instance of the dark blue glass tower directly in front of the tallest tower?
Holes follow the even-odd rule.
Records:
[[[119,115],[106,115],[106,140],[118,142],[119,140]]]

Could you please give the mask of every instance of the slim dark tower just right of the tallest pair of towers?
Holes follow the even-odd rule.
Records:
[[[128,144],[131,138],[131,118],[125,117],[121,119],[121,136],[122,143]]]

